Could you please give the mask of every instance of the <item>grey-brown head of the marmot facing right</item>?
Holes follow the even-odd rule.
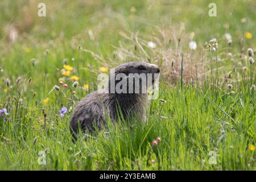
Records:
[[[110,71],[110,80],[114,80],[115,84],[109,85],[109,88],[115,91],[119,89],[117,93],[128,93],[128,90],[129,93],[146,93],[148,87],[159,77],[159,73],[160,68],[155,64],[143,62],[121,64]]]

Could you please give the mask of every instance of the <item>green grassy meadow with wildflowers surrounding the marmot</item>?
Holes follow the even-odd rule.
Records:
[[[256,74],[246,52],[255,48],[254,1],[216,4],[217,17],[210,18],[205,1],[46,1],[47,17],[39,18],[37,1],[1,1],[0,109],[9,115],[6,122],[0,117],[0,169],[255,170],[256,90],[250,88]],[[212,38],[216,52],[204,46]],[[191,40],[196,50],[189,49]],[[99,68],[129,60],[161,68],[159,98],[148,106],[146,124],[109,123],[108,133],[73,143],[69,118],[97,89]],[[69,76],[61,74],[64,63],[73,67]],[[61,106],[68,107],[63,118]],[[152,146],[157,137],[162,141]],[[46,165],[38,163],[40,151]]]

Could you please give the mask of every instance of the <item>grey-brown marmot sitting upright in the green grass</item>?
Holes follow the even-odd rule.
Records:
[[[112,77],[111,73],[113,71],[114,77]],[[102,126],[106,124],[106,115],[112,122],[116,121],[121,115],[123,119],[139,117],[139,119],[146,121],[148,95],[147,92],[143,92],[142,88],[146,86],[147,91],[147,88],[154,84],[155,78],[158,78],[159,72],[160,69],[157,65],[143,62],[125,63],[112,69],[108,80],[109,84],[103,90],[104,92],[102,90],[101,92],[99,90],[92,92],[77,105],[69,123],[73,138],[76,139],[77,137],[79,124],[83,132],[86,130],[92,132],[95,127],[102,129]],[[143,81],[143,78],[138,75],[146,75],[146,81]],[[149,75],[152,76],[151,80],[148,79]],[[115,89],[118,83],[120,85],[122,81],[121,78],[117,79],[120,76],[124,76],[122,80],[126,80],[127,85],[124,84],[119,87],[122,91],[121,93],[120,90],[119,92],[118,90],[113,92],[111,89]],[[136,85],[134,79],[138,77],[139,85]],[[133,85],[130,84],[131,80],[133,80]]]

